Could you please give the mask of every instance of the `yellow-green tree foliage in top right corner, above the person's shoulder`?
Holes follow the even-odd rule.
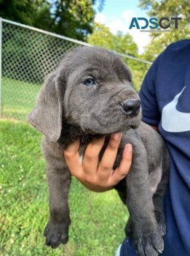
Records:
[[[140,0],[139,6],[147,10],[149,17],[182,18],[182,20],[178,21],[178,29],[174,28],[174,22],[172,21],[170,32],[151,32],[151,42],[146,47],[146,52],[143,54],[144,59],[153,61],[170,43],[190,37],[189,0]]]

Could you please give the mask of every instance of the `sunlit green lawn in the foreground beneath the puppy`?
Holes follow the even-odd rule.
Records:
[[[114,255],[124,238],[125,207],[114,190],[90,192],[75,178],[68,244],[55,250],[44,245],[48,197],[40,141],[28,124],[0,121],[0,255]]]

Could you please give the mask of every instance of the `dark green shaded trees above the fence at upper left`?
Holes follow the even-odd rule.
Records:
[[[104,0],[0,0],[0,17],[85,41],[96,1],[103,8]]]

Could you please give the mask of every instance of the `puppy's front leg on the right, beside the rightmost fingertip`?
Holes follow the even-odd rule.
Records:
[[[133,159],[127,174],[127,207],[132,221],[132,236],[140,256],[157,256],[164,244],[154,217],[154,205],[149,188],[149,168],[142,143],[133,146]]]

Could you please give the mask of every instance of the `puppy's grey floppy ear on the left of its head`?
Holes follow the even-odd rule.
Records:
[[[62,129],[63,86],[58,82],[56,72],[49,75],[41,88],[36,107],[26,117],[33,127],[52,142],[58,141]]]

